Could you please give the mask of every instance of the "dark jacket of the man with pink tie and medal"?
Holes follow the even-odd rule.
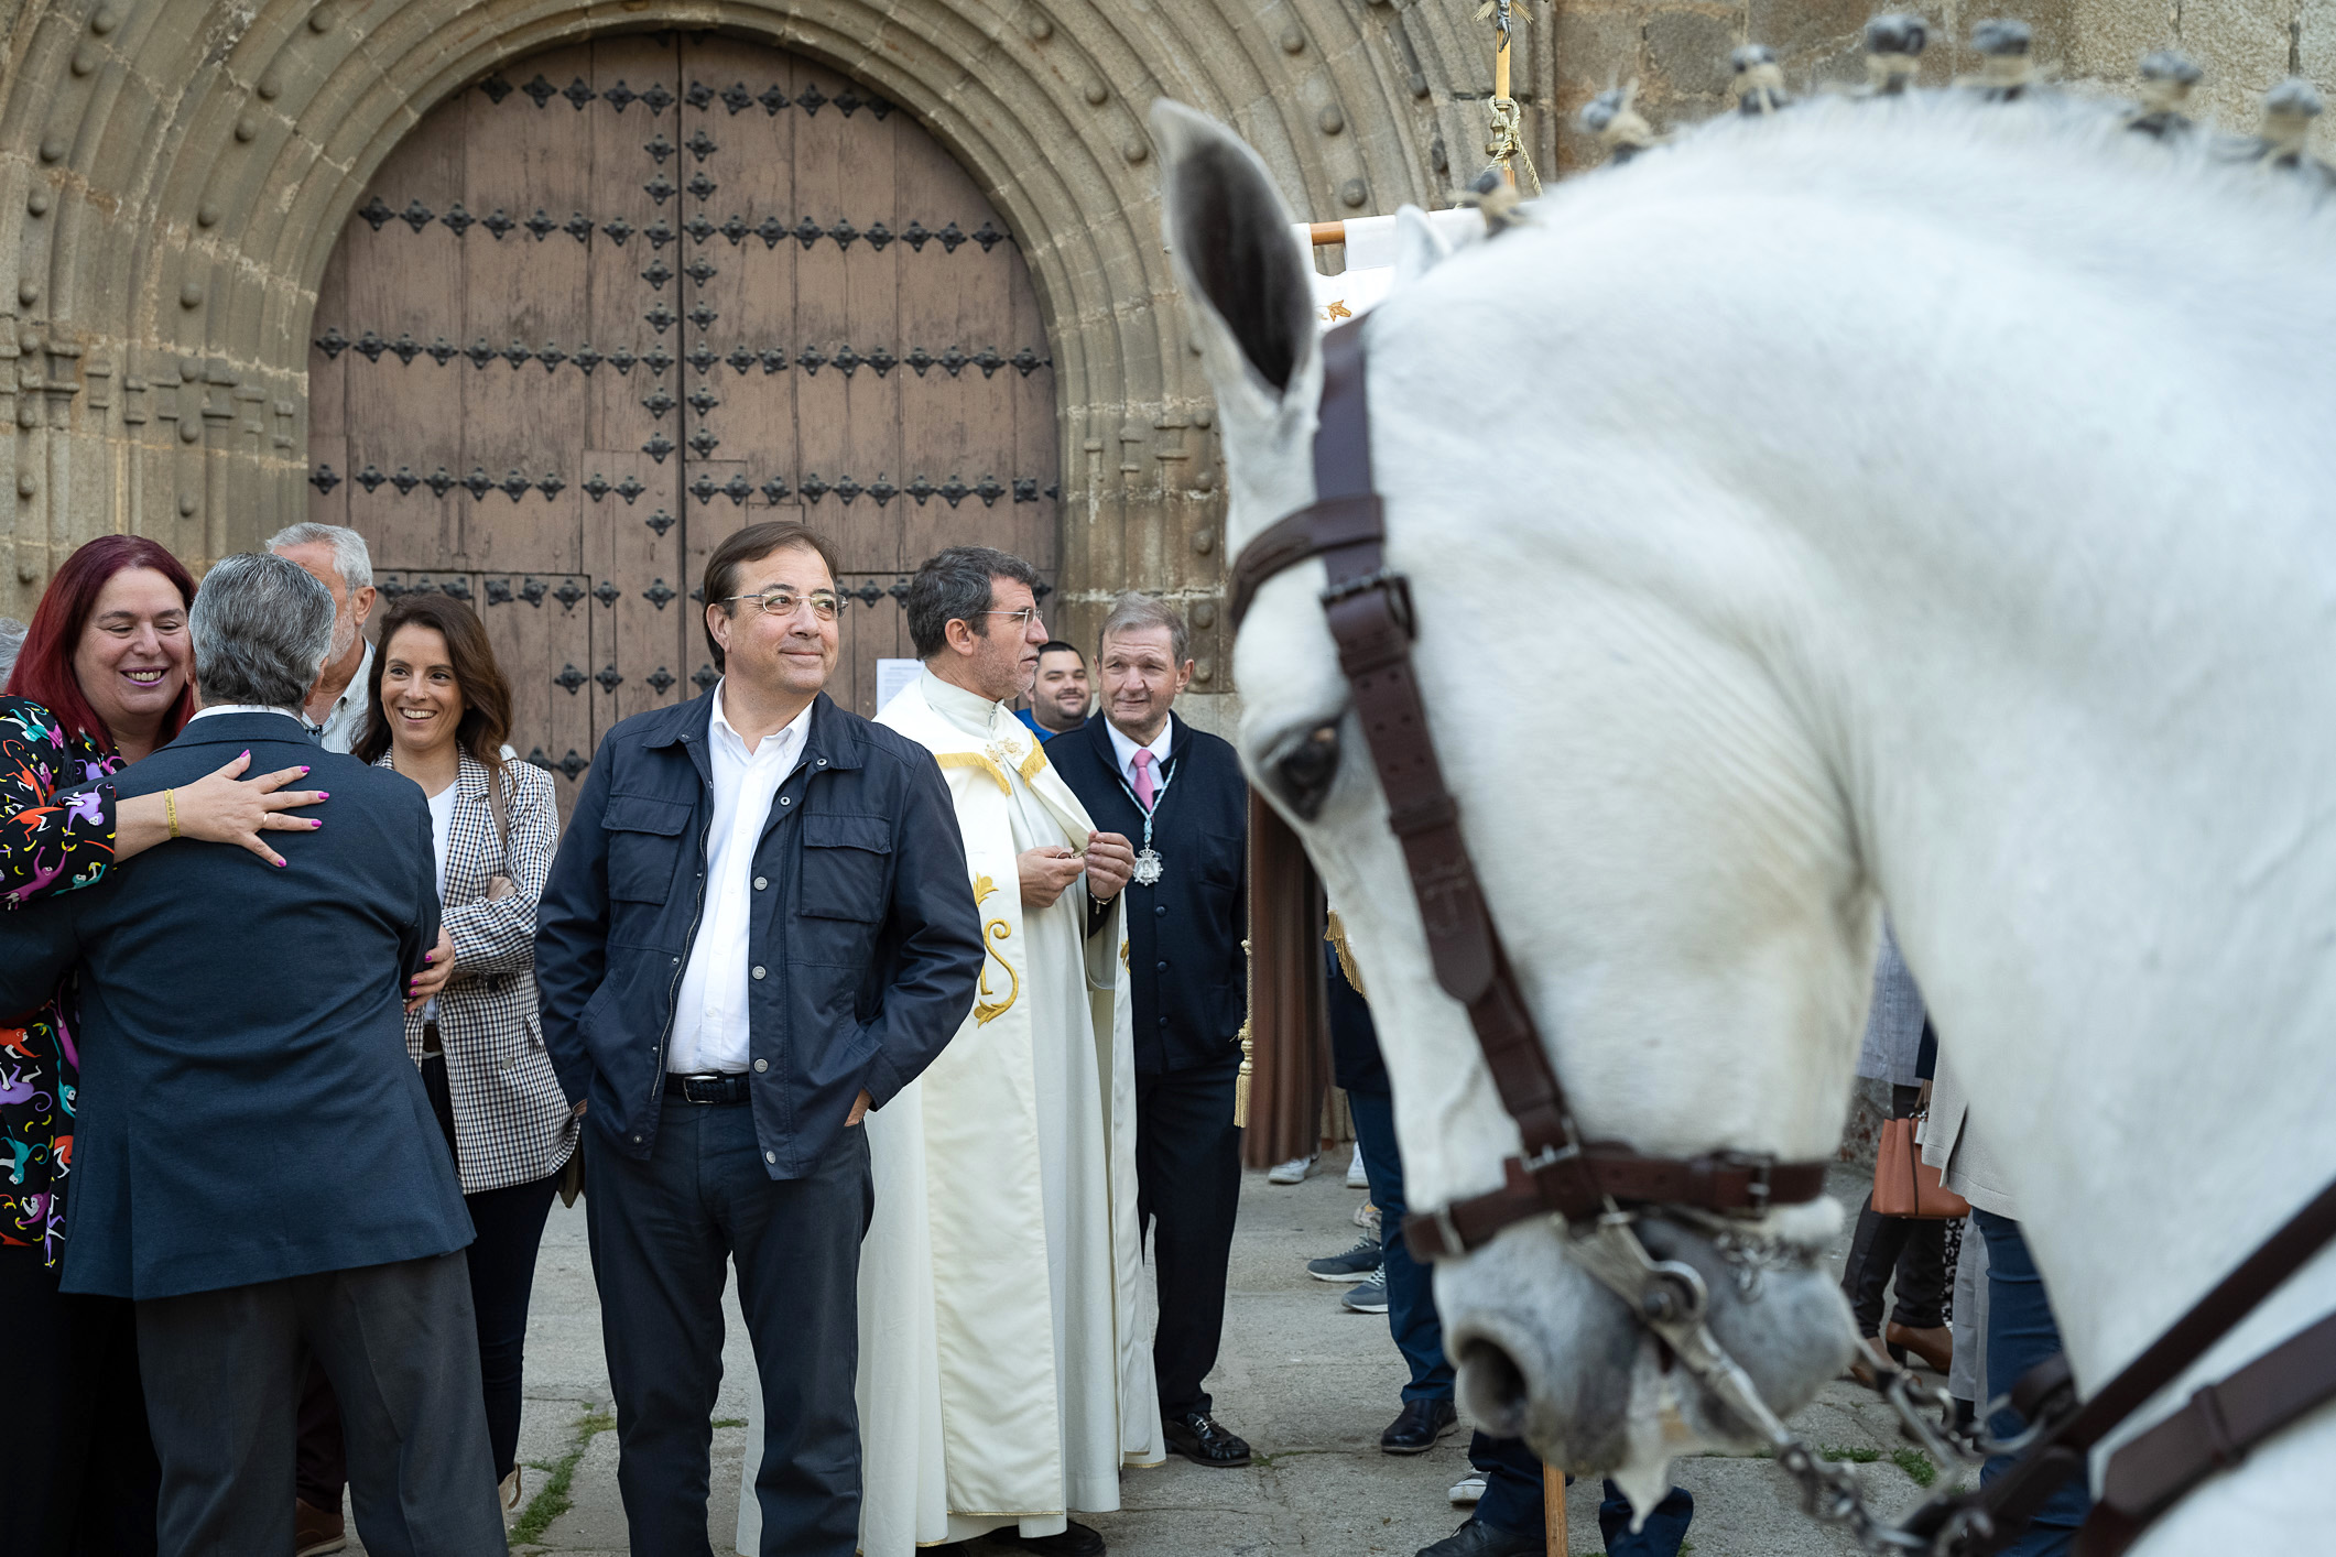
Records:
[[[1240,936],[1250,885],[1250,784],[1233,747],[1168,714],[1168,791],[1152,817],[1166,861],[1154,887],[1128,882],[1135,1071],[1156,1076],[1240,1062],[1247,969]],[[1119,782],[1112,731],[1096,714],[1047,742],[1096,829],[1142,847],[1145,812]]]

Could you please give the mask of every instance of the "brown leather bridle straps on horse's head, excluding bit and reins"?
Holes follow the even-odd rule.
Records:
[[[1523,1153],[1502,1162],[1504,1184],[1497,1191],[1404,1219],[1411,1254],[1423,1261],[1455,1258],[1502,1228],[1549,1214],[1570,1223],[1635,1205],[1761,1214],[1822,1195],[1824,1162],[1775,1162],[1733,1151],[1649,1158],[1619,1141],[1581,1139],[1500,948],[1476,864],[1460,836],[1460,805],[1444,784],[1427,733],[1427,705],[1411,668],[1411,642],[1418,637],[1411,584],[1388,567],[1388,525],[1371,490],[1362,320],[1322,336],[1322,420],[1313,467],[1315,500],[1243,546],[1233,563],[1233,630],[1240,630],[1266,579],[1322,558],[1329,572],[1322,614],[1339,642],[1339,668],[1388,796],[1388,824],[1404,845],[1437,983],[1467,1006],[1493,1085],[1523,1137]]]

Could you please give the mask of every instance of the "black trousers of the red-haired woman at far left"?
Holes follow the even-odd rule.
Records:
[[[147,1557],[161,1466],[124,1298],[56,1291],[37,1247],[0,1247],[7,1492],[0,1557]]]

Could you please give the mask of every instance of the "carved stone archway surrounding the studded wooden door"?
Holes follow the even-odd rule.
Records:
[[[1145,110],[1166,93],[1236,124],[1301,215],[1441,203],[1455,180],[1432,145],[1483,131],[1437,91],[1462,37],[1425,9],[30,0],[0,86],[0,252],[19,261],[19,285],[0,280],[0,413],[16,425],[0,439],[0,502],[16,488],[0,609],[28,612],[91,535],[152,535],[203,565],[304,514],[315,287],[374,170],[500,63],[656,28],[813,56],[958,156],[1023,247],[1054,352],[1061,626],[1084,635],[1128,584],[1205,600],[1222,481]],[[1476,75],[1488,65],[1455,82]],[[1448,159],[1460,177],[1469,156]],[[1357,189],[1362,205],[1343,203]],[[1217,633],[1201,656],[1222,665]]]

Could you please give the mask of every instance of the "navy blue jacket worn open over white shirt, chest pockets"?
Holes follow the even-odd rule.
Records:
[[[712,691],[600,740],[535,920],[544,1043],[586,1130],[656,1146],[673,1001],[705,913]],[[981,920],[932,752],[820,693],[755,845],[755,1134],[801,1179],[860,1097],[881,1109],[974,1008]]]

